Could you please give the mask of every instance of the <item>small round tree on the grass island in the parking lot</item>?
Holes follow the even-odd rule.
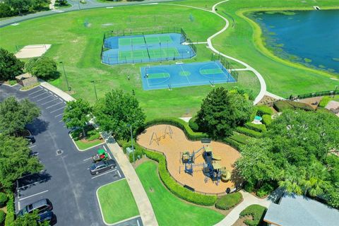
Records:
[[[83,129],[83,137],[85,137],[85,126],[90,121],[91,112],[92,107],[90,107],[90,103],[83,99],[78,99],[67,102],[62,119],[66,123],[67,128]]]

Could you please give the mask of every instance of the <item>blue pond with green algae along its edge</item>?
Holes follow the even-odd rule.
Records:
[[[339,10],[257,12],[251,17],[274,54],[339,73]]]

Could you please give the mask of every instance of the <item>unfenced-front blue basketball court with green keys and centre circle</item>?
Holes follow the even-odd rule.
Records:
[[[141,67],[143,90],[234,83],[220,61]]]

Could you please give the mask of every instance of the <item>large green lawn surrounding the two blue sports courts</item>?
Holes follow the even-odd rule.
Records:
[[[184,1],[179,1],[182,2]],[[194,17],[193,22],[189,19],[190,15]],[[88,28],[84,25],[86,19],[90,23]],[[118,66],[101,64],[103,33],[109,30],[147,31],[177,26],[182,27],[193,42],[201,42],[206,41],[223,25],[224,22],[218,16],[193,8],[168,5],[121,6],[62,13],[28,20],[18,26],[1,28],[0,46],[15,52],[16,45],[52,44],[46,55],[57,62],[64,61],[69,85],[75,98],[82,97],[92,103],[95,102],[93,84],[90,83],[95,81],[98,97],[102,97],[113,88],[123,89],[127,93],[132,93],[134,90],[148,119],[162,117],[164,112],[167,117],[184,117],[195,114],[200,108],[201,100],[212,90],[210,85],[175,88],[172,91],[143,91],[140,67],[146,64]],[[184,62],[210,60],[212,52],[206,48],[206,44],[197,44],[196,47],[198,55],[193,59],[183,60]],[[173,63],[174,61],[162,62],[162,64]],[[239,66],[234,61],[230,63],[234,68]],[[155,62],[150,65],[158,64],[159,62]],[[62,90],[67,90],[60,65],[59,71],[61,76],[49,82]],[[254,84],[249,84],[248,78],[253,75],[251,73],[243,73],[243,75],[243,78],[239,78],[239,83],[224,84],[224,86],[249,88],[257,94],[259,83],[256,82],[256,78],[250,78]],[[130,76],[130,80],[127,76]]]

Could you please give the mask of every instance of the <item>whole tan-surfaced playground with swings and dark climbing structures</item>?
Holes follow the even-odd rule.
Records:
[[[211,141],[189,141],[176,126],[150,126],[137,138],[139,145],[164,153],[167,169],[183,186],[206,194],[233,189],[232,170],[240,153],[234,148]]]

